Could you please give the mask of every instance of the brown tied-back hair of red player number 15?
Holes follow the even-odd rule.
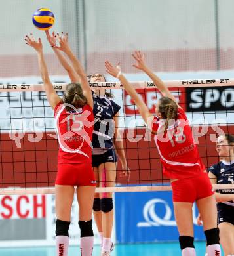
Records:
[[[87,98],[83,95],[83,90],[79,83],[69,83],[66,86],[62,101],[73,105],[75,108],[87,104]],[[66,109],[70,109],[70,107],[66,107]]]

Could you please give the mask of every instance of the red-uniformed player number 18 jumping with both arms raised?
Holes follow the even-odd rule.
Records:
[[[149,112],[135,89],[121,74],[119,66],[115,68],[111,63],[106,62],[106,70],[121,81],[144,121],[156,133],[155,143],[159,150],[163,171],[171,179],[174,214],[180,233],[182,255],[195,255],[192,217],[195,201],[203,218],[208,256],[220,255],[214,193],[205,166],[199,157],[197,145],[193,141],[185,112],[176,103],[176,99],[163,81],[147,68],[144,54],[136,51],[132,56],[136,60],[133,66],[149,75],[163,95],[155,108],[157,117]]]

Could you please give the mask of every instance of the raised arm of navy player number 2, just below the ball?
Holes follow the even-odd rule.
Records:
[[[56,35],[55,35],[55,33],[52,32],[52,35],[50,35],[49,30],[45,30],[45,34],[47,35],[47,41],[49,42],[49,44],[52,47],[54,53],[56,54],[60,64],[68,72],[71,83],[80,83],[79,75],[75,72],[75,70],[71,66],[71,64],[69,64],[68,60],[64,57],[62,52],[58,48],[56,48]]]

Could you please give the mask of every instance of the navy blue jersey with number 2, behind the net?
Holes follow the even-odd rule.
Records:
[[[92,94],[94,100],[94,132],[92,135],[93,148],[111,148],[113,146],[114,125],[113,116],[120,106],[106,96]]]

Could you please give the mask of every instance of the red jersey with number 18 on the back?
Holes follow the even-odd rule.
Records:
[[[178,108],[177,118],[169,122],[166,133],[160,132],[165,120],[154,117],[152,129],[157,131],[155,143],[161,157],[163,174],[170,179],[182,179],[199,175],[205,170],[193,139],[187,116]]]

